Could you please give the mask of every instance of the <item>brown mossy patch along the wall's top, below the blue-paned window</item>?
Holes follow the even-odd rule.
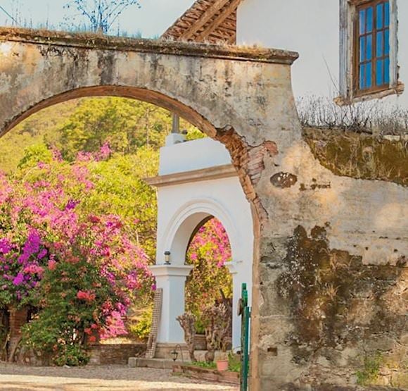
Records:
[[[408,139],[312,128],[305,128],[303,137],[321,165],[336,175],[408,186]]]

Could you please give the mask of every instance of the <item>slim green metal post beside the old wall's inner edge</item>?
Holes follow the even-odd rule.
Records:
[[[248,290],[246,283],[241,287],[241,301],[239,305],[241,315],[241,391],[248,390],[249,373],[249,319]]]

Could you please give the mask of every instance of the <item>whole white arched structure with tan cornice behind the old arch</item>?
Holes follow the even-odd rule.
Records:
[[[176,141],[176,142],[174,142]],[[240,346],[241,322],[237,315],[241,284],[252,287],[253,221],[250,204],[229,152],[213,139],[184,142],[172,135],[160,150],[159,176],[147,182],[158,187],[156,265],[151,267],[163,290],[158,343],[184,342],[177,316],[184,313],[184,289],[192,266],[185,264],[191,236],[205,219],[217,218],[229,236],[233,278],[233,341]],[[170,252],[170,265],[165,264]]]

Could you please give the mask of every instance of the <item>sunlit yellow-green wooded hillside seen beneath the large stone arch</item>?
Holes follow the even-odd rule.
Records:
[[[135,154],[147,145],[162,147],[171,132],[172,115],[134,99],[86,98],[57,104],[33,114],[0,139],[0,170],[11,173],[27,147],[43,144],[72,161],[79,151],[96,152],[108,143],[113,154]],[[189,139],[202,135],[181,120]]]

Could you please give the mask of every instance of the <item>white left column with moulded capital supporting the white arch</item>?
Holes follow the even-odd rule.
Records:
[[[163,290],[158,343],[184,343],[184,332],[176,318],[185,312],[184,290],[186,278],[192,268],[193,266],[150,266],[156,286]]]

